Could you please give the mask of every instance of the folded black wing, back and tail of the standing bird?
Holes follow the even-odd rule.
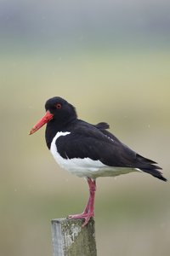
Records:
[[[161,167],[156,166],[155,161],[144,158],[128,148],[111,132],[106,131],[107,128],[109,125],[106,123],[98,125],[79,123],[71,134],[58,138],[56,143],[59,154],[65,159],[91,158],[100,160],[106,166],[139,168],[143,172],[167,181],[158,171]],[[61,143],[58,143],[59,141]]]

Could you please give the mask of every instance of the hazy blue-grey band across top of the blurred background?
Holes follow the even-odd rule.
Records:
[[[169,1],[1,1],[1,44],[97,47],[152,41],[169,44]],[[123,40],[122,40],[123,38]],[[11,41],[12,40],[12,41]],[[13,40],[20,42],[14,44]],[[127,40],[127,42],[126,42]]]

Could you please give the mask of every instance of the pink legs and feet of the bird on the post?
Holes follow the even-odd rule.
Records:
[[[81,214],[76,215],[70,215],[69,218],[84,218],[85,222],[82,224],[84,227],[86,224],[88,224],[88,221],[91,217],[94,217],[94,196],[95,196],[95,190],[96,190],[96,183],[95,180],[92,180],[88,177],[88,186],[89,186],[89,199],[88,204],[84,209],[84,212]]]

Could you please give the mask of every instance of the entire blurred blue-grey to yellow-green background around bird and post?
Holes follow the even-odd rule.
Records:
[[[0,255],[52,255],[50,219],[82,212],[88,185],[56,165],[44,102],[106,121],[169,174],[170,2],[0,2]],[[170,255],[170,187],[144,173],[97,180],[98,255]]]

